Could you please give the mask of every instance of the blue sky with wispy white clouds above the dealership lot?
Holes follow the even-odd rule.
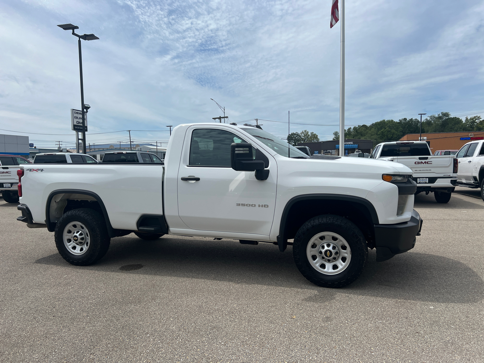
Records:
[[[287,121],[290,110],[291,131],[331,139],[340,27],[330,29],[330,9],[331,0],[0,0],[0,128],[12,130],[0,133],[74,145],[77,38],[56,26],[72,23],[100,38],[82,44],[88,142],[212,121],[221,111],[211,98],[231,122]],[[347,0],[346,124],[479,114],[483,25],[483,1]],[[287,136],[287,124],[262,123]],[[132,132],[137,142],[168,135]]]

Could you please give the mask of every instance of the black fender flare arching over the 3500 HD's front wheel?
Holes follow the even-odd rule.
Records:
[[[279,251],[284,252],[287,247],[287,237],[286,237],[286,221],[289,211],[291,207],[301,200],[310,200],[310,199],[322,199],[322,200],[341,200],[347,202],[353,202],[362,204],[364,207],[368,209],[370,212],[371,221],[374,225],[378,225],[378,214],[375,210],[375,207],[368,199],[356,196],[346,196],[343,194],[304,194],[301,196],[293,197],[289,199],[284,207],[284,211],[282,212],[281,216],[281,223],[279,226],[279,235],[277,236],[277,244],[279,245]]]

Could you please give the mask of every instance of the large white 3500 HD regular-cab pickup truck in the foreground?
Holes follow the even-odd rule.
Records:
[[[377,260],[413,248],[422,220],[412,171],[383,160],[316,155],[250,126],[173,130],[165,165],[48,164],[19,170],[27,227],[55,232],[61,256],[89,265],[134,232],[292,244],[311,282],[342,287]],[[292,240],[293,242],[288,242]]]

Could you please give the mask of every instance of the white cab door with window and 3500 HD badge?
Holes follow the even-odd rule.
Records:
[[[178,171],[179,216],[195,230],[268,236],[276,198],[275,160],[266,155],[269,178],[258,181],[253,171],[231,168],[230,145],[234,142],[246,141],[242,133],[216,126],[187,130]]]

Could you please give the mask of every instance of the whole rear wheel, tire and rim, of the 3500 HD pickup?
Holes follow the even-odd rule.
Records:
[[[64,213],[57,222],[54,239],[62,258],[77,266],[87,266],[102,258],[111,241],[104,217],[89,208]]]

